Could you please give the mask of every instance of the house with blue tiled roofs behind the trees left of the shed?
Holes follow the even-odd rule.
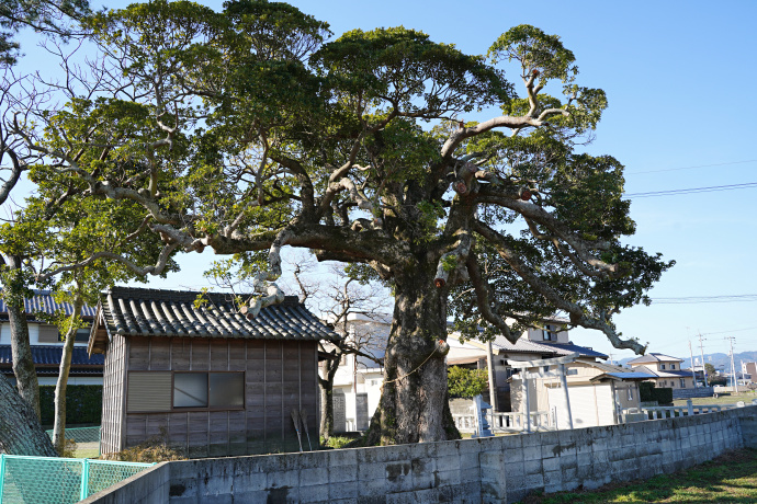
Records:
[[[56,302],[47,290],[37,290],[33,297],[24,300],[24,311],[37,380],[42,386],[54,386],[58,380],[64,342],[58,328],[44,320],[42,314],[54,314],[59,311],[70,314],[74,307],[68,302]],[[94,308],[84,305],[81,317],[86,322],[91,323],[94,318]],[[104,358],[102,355],[90,357],[87,354],[89,331],[89,328],[83,328],[76,334],[68,385],[102,385]],[[8,308],[2,299],[0,299],[0,371],[15,382],[11,354],[11,327],[8,321]]]

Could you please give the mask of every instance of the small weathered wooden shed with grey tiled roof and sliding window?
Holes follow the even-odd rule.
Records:
[[[337,336],[297,301],[248,320],[230,295],[113,287],[89,340],[104,353],[103,454],[165,438],[190,457],[298,450],[292,410],[318,443],[318,341]],[[307,448],[305,432],[303,443]]]

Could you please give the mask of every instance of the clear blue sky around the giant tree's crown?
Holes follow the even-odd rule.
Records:
[[[202,2],[219,9],[222,2]],[[609,108],[587,147],[626,167],[626,192],[669,191],[757,182],[757,3],[753,1],[315,1],[293,2],[327,21],[335,35],[360,27],[404,25],[437,42],[483,54],[499,34],[533,24],[561,35],[574,51],[579,85],[601,88]],[[109,3],[109,7],[125,2]],[[26,42],[25,37],[24,41]],[[27,54],[33,51],[25,46]],[[517,76],[511,75],[516,84]],[[484,118],[472,117],[472,118]],[[703,167],[703,168],[691,168]],[[653,298],[757,293],[757,187],[633,198],[637,232],[628,242],[662,252],[677,265]],[[204,284],[205,252],[156,287]],[[653,303],[617,317],[624,336],[651,352],[688,356],[688,341],[705,334],[704,352],[757,350],[755,302]],[[602,334],[574,330],[575,343],[629,357]]]

